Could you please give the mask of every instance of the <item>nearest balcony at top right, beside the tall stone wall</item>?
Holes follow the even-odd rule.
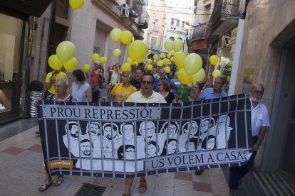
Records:
[[[237,0],[215,0],[214,9],[210,17],[211,26],[206,31],[206,42],[217,43],[219,35],[231,31],[237,26],[239,16],[239,1]]]

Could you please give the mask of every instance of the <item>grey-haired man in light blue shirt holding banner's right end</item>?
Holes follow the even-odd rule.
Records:
[[[229,173],[229,195],[237,195],[237,188],[242,185],[242,178],[249,173],[254,165],[254,159],[259,146],[261,145],[266,129],[269,126],[269,114],[264,104],[261,103],[264,87],[261,84],[255,84],[251,89],[251,116],[252,116],[252,156],[247,164],[242,167],[231,167]]]

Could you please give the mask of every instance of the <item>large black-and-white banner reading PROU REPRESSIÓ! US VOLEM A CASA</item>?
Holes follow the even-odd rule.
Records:
[[[229,167],[251,155],[245,94],[182,104],[42,102],[48,173],[132,177]]]

